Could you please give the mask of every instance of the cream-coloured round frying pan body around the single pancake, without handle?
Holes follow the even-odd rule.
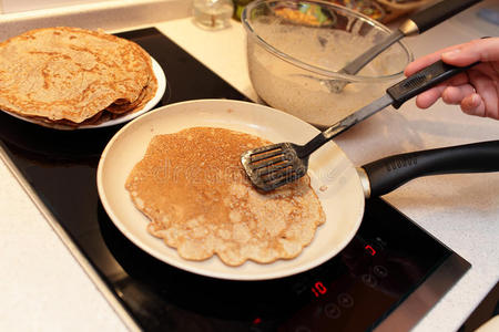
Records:
[[[352,240],[364,214],[364,194],[354,165],[330,142],[310,156],[308,173],[326,214],[326,222],[298,257],[264,264],[246,261],[240,267],[226,266],[216,256],[204,261],[181,258],[175,249],[147,232],[150,221],[135,208],[124,185],[154,135],[194,126],[240,131],[275,143],[304,144],[318,133],[312,125],[287,113],[228,100],[171,104],[126,124],[109,142],[101,156],[98,189],[111,220],[138,247],[171,266],[194,273],[231,280],[264,280],[312,269],[338,253]]]

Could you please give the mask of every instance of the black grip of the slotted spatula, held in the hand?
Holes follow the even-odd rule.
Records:
[[[394,98],[391,105],[399,108],[405,102],[419,93],[441,83],[454,75],[457,75],[477,63],[467,66],[455,66],[442,62],[441,60],[430,64],[419,72],[410,75],[404,81],[387,89],[387,93]]]

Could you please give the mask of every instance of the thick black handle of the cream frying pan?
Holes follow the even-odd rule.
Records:
[[[370,183],[370,196],[381,196],[421,176],[499,172],[499,141],[394,155],[361,168]]]

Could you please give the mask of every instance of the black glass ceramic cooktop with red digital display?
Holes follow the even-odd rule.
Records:
[[[163,66],[167,91],[160,105],[194,98],[246,100],[157,30],[120,35],[141,44]],[[98,276],[98,287],[120,307],[116,312],[131,328],[404,331],[470,267],[376,198],[367,201],[352,242],[313,270],[253,282],[192,274],[135,247],[100,204],[95,185],[99,157],[119,126],[61,132],[0,113],[3,157],[48,211],[54,229],[62,229],[63,240],[75,245],[82,266]]]

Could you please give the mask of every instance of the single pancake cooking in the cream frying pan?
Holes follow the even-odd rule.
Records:
[[[258,193],[241,154],[269,144],[224,128],[193,127],[157,135],[126,180],[147,230],[189,260],[217,255],[228,266],[299,255],[325,221],[309,177]]]

